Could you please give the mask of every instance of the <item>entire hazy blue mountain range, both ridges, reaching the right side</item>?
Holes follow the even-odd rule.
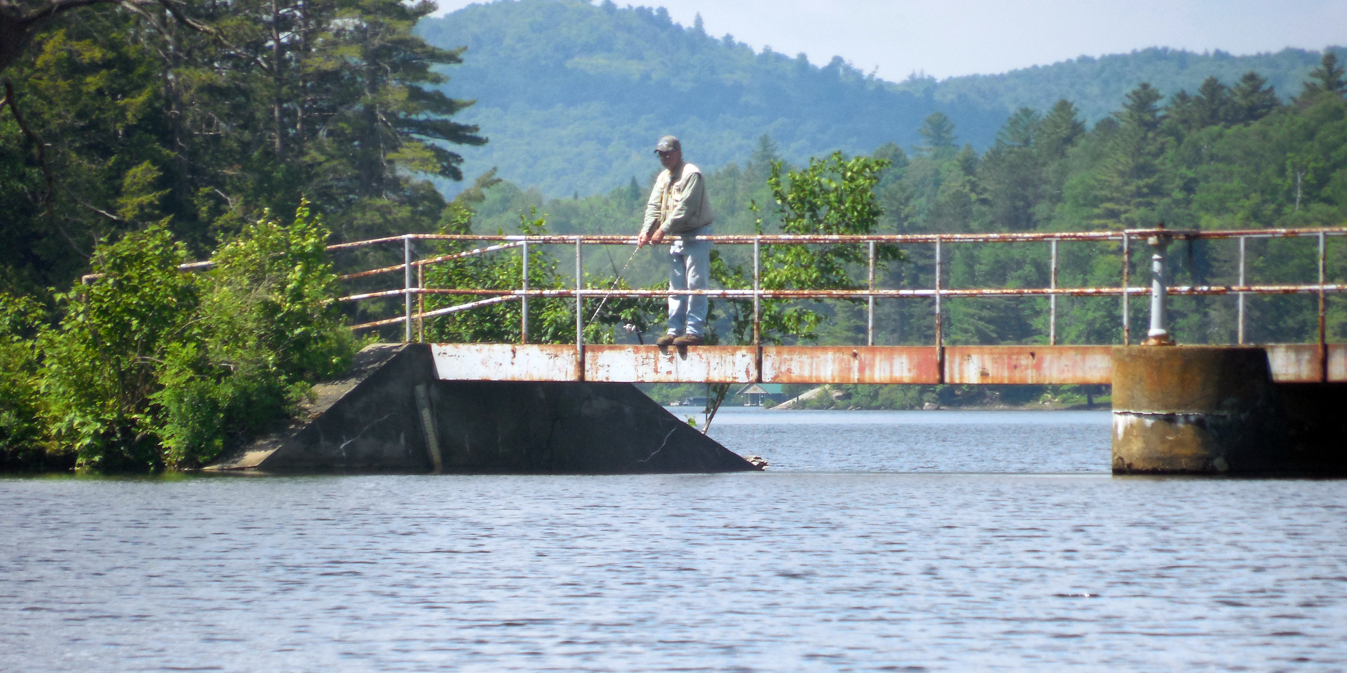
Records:
[[[796,163],[834,149],[870,152],[921,143],[921,121],[943,112],[959,143],[990,145],[1006,117],[1068,98],[1098,120],[1141,81],[1167,94],[1195,90],[1208,74],[1233,82],[1258,70],[1286,96],[1319,55],[1284,50],[1257,57],[1144,50],[1079,58],[999,75],[886,82],[841,57],[814,66],[803,55],[754,52],[700,24],[683,27],[663,8],[618,8],[610,0],[519,0],[469,5],[424,19],[418,34],[438,47],[466,46],[447,70],[446,93],[475,98],[457,121],[490,139],[458,148],[463,172],[500,176],[547,197],[589,195],[659,168],[655,139],[674,133],[704,168],[742,162],[769,133]],[[1172,86],[1172,90],[1171,87]],[[461,186],[445,184],[457,192]]]

